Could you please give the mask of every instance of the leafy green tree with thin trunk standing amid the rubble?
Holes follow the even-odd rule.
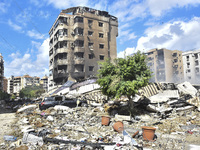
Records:
[[[129,112],[132,115],[131,97],[148,84],[151,71],[146,64],[146,55],[138,51],[126,59],[118,58],[114,62],[111,60],[102,62],[97,76],[97,83],[103,94],[110,98],[128,97]]]

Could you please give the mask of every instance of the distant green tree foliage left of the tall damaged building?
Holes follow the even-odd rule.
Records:
[[[45,90],[41,86],[26,86],[20,91],[19,96],[20,98],[35,98],[44,92]]]

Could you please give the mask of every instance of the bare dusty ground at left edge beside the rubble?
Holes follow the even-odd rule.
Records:
[[[0,107],[0,143],[2,143],[4,135],[11,135],[13,130],[12,124],[15,123],[15,113]]]

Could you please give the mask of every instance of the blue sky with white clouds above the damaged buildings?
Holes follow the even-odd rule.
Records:
[[[61,10],[76,6],[118,18],[118,57],[152,48],[200,49],[200,0],[0,0],[4,76],[48,75],[48,32]]]

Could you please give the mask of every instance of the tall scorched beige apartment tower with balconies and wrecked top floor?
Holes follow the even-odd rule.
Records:
[[[106,11],[72,7],[49,31],[49,88],[95,76],[98,62],[117,57],[118,19]]]

